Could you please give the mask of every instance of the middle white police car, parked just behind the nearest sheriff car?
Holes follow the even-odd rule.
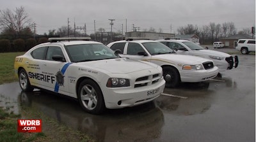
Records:
[[[178,55],[158,41],[127,39],[109,43],[108,46],[122,53],[121,57],[147,60],[163,67],[166,87],[176,87],[179,82],[203,82],[218,75],[218,67],[212,60]]]

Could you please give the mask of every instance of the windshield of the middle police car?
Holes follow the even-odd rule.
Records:
[[[172,49],[168,48],[168,46],[165,46],[163,43],[159,42],[147,42],[142,43],[142,45],[145,46],[151,55],[175,53]]]

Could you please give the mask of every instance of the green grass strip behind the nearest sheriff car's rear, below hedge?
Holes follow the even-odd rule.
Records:
[[[17,81],[14,76],[14,60],[24,52],[0,53],[0,84]]]

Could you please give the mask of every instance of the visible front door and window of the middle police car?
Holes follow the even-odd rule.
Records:
[[[143,55],[144,53],[144,55]],[[123,57],[133,60],[147,60],[150,61],[151,56],[139,43],[129,42],[125,46]]]

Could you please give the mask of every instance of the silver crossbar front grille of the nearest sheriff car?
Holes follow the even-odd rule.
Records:
[[[154,83],[157,83],[160,78],[161,78],[160,74],[143,76],[143,77],[137,78],[134,83],[134,88],[152,85]]]

